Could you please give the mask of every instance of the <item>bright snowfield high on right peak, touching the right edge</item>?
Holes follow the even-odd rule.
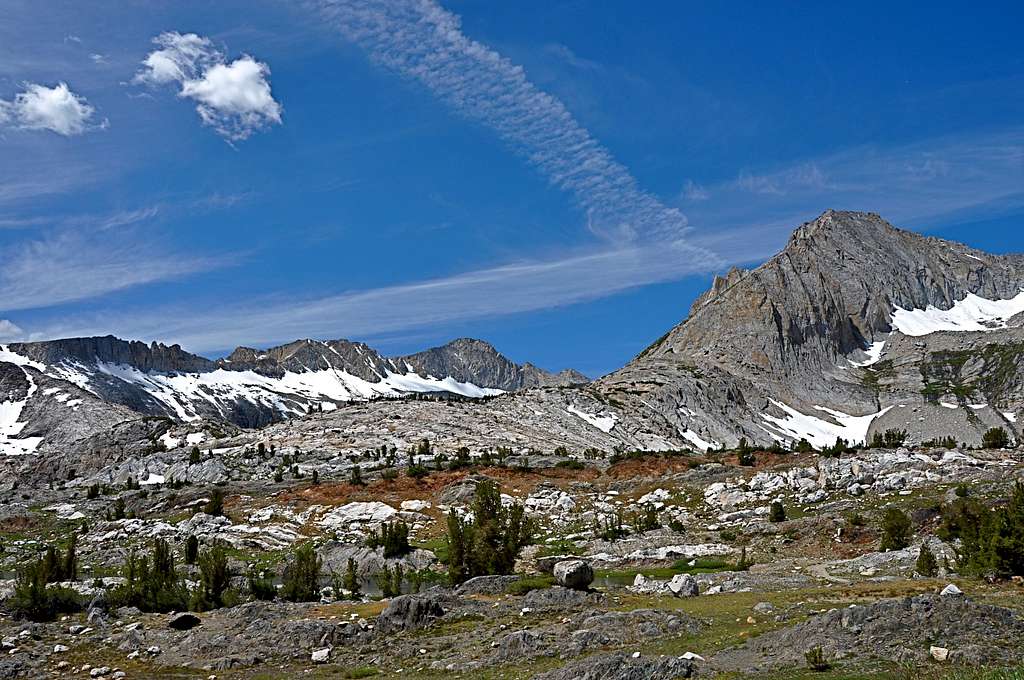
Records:
[[[949,309],[929,305],[927,309],[893,311],[892,327],[903,335],[920,337],[938,331],[994,331],[1024,311],[1024,291],[1009,300],[987,300],[974,293]]]

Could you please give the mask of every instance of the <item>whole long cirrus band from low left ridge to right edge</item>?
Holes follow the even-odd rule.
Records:
[[[929,160],[942,172],[922,172]],[[809,172],[810,166],[816,170]],[[1019,208],[1024,206],[1024,132],[850,150],[763,176],[779,192],[751,194],[727,181],[710,186],[708,199],[694,205],[691,238],[697,247],[721,253],[715,261],[691,257],[688,247],[633,244],[315,299],[282,296],[216,307],[165,306],[122,315],[61,317],[31,330],[34,337],[114,332],[212,351],[296,337],[366,338],[570,305],[758,263],[777,252],[793,228],[829,207],[873,210],[904,227]]]

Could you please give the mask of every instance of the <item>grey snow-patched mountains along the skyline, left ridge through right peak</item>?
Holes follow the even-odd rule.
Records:
[[[310,408],[353,451],[425,433],[483,448],[821,448],[887,429],[975,443],[990,427],[1020,432],[1022,312],[1024,257],[827,211],[760,267],[717,278],[686,320],[593,383],[470,339],[397,357],[300,340],[219,360],[113,337],[0,346],[0,451],[116,458],[155,436],[140,415],[260,427]],[[336,411],[425,392],[501,396]]]

